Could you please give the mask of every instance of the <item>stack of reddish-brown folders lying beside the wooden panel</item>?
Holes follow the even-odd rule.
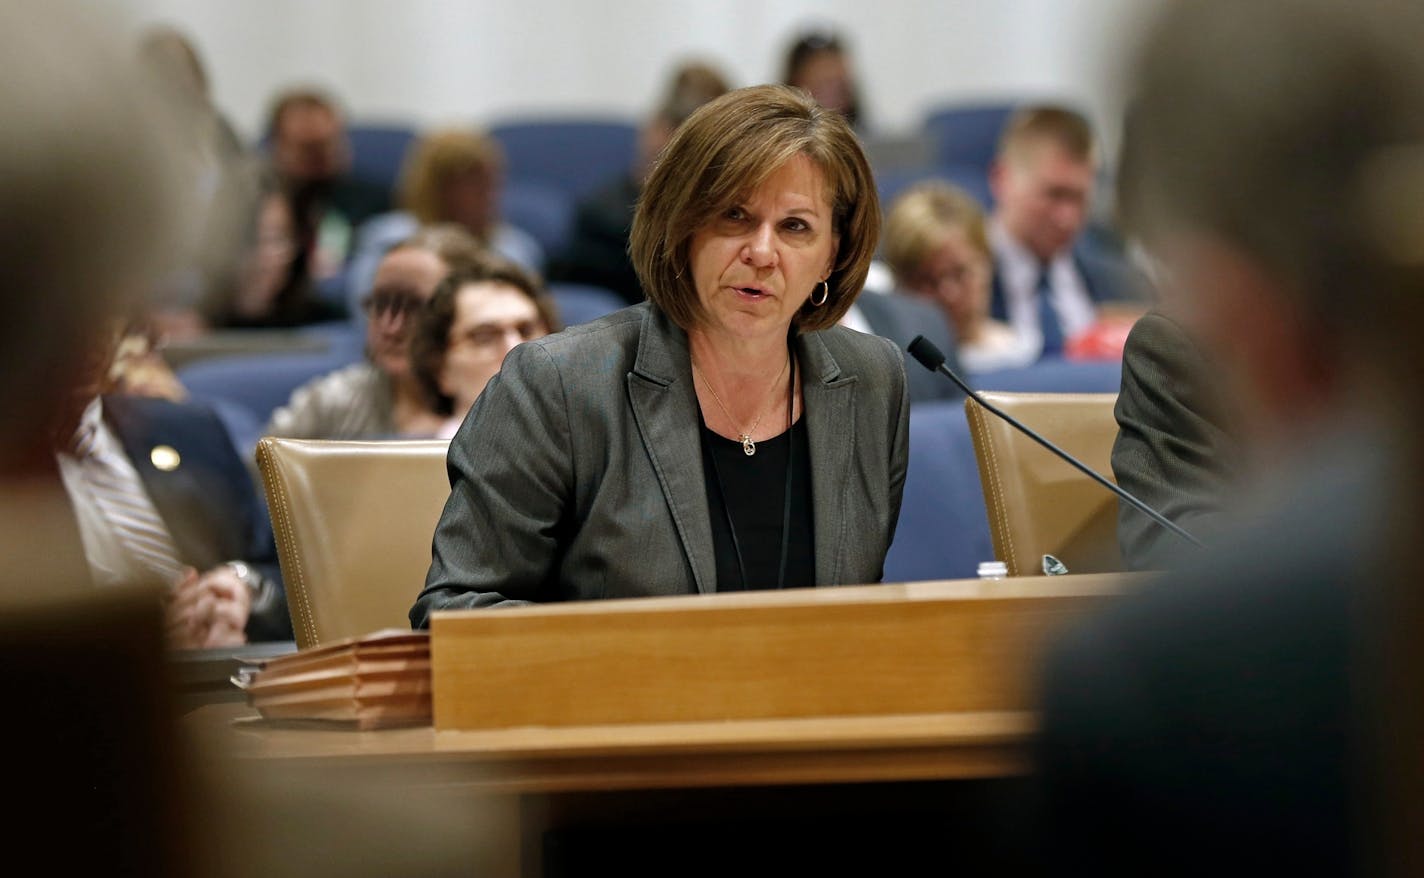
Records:
[[[382,729],[430,723],[429,632],[379,630],[266,659],[232,682],[266,719]]]

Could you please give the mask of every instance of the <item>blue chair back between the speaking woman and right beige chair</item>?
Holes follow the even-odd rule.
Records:
[[[964,404],[910,408],[910,468],[886,582],[965,579],[994,559]]]

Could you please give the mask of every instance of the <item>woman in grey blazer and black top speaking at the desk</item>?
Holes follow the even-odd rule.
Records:
[[[648,302],[510,351],[450,443],[414,628],[437,609],[877,582],[907,460],[904,359],[836,322],[880,208],[803,92],[728,92],[648,178]]]

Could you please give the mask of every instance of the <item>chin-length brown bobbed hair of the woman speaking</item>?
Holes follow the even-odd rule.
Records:
[[[834,326],[864,286],[880,236],[870,164],[846,120],[785,85],[739,88],[703,104],[674,134],[632,221],[629,253],[648,299],[682,329],[705,317],[689,266],[692,236],[796,155],[824,175],[839,236],[829,300],[809,302],[793,323]]]

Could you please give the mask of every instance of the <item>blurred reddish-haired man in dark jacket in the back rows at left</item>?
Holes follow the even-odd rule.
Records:
[[[281,92],[266,135],[272,169],[296,221],[293,270],[305,282],[335,282],[350,258],[355,229],[390,209],[390,192],[350,174],[346,120],[320,90]]]

